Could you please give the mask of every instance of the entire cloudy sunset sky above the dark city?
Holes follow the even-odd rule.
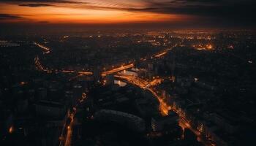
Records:
[[[0,0],[0,23],[254,26],[254,0]]]

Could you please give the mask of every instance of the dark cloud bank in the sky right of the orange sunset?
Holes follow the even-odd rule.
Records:
[[[256,23],[256,1],[252,0],[173,0],[147,1],[147,9],[130,9],[175,15],[195,15],[233,23]]]

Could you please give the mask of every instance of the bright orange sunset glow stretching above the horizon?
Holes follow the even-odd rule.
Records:
[[[68,5],[68,4],[66,4]],[[49,7],[22,7],[17,4],[0,4],[0,13],[17,18],[0,20],[6,23],[150,23],[186,20],[186,15],[132,12],[126,9],[75,8],[60,5]]]

